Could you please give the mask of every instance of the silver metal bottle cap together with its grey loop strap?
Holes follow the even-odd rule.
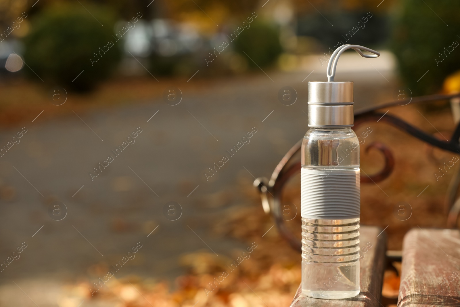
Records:
[[[308,126],[351,127],[354,122],[354,84],[351,81],[334,81],[339,56],[354,49],[364,58],[377,58],[380,53],[358,45],[342,45],[331,55],[328,64],[328,81],[308,82]],[[362,50],[373,54],[363,54]]]

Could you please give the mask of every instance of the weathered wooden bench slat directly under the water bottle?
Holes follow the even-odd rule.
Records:
[[[386,235],[382,229],[371,226],[360,228],[360,283],[359,295],[343,300],[315,299],[302,294],[299,286],[291,307],[377,307],[380,306],[383,272],[385,269]]]

